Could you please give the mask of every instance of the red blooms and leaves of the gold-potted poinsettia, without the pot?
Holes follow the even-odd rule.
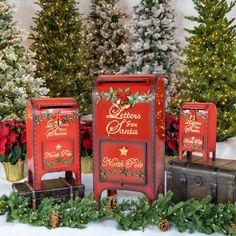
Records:
[[[0,121],[0,162],[15,165],[26,156],[26,126],[22,121]]]

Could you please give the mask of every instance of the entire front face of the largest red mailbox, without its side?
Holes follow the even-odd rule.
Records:
[[[97,189],[147,188],[153,168],[153,85],[150,75],[98,79],[93,93]]]

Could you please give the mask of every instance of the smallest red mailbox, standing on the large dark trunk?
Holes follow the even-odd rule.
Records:
[[[216,157],[216,106],[213,103],[184,103],[180,114],[179,158],[183,151],[202,152],[204,160]]]

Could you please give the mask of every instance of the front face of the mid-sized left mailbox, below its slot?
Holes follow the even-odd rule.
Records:
[[[42,108],[34,114],[37,165],[43,172],[70,170],[79,147],[76,109]]]

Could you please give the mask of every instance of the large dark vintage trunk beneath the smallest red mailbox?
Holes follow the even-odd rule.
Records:
[[[212,196],[215,203],[236,201],[236,161],[217,159],[206,163],[200,157],[168,162],[165,190],[174,193],[174,202]]]

